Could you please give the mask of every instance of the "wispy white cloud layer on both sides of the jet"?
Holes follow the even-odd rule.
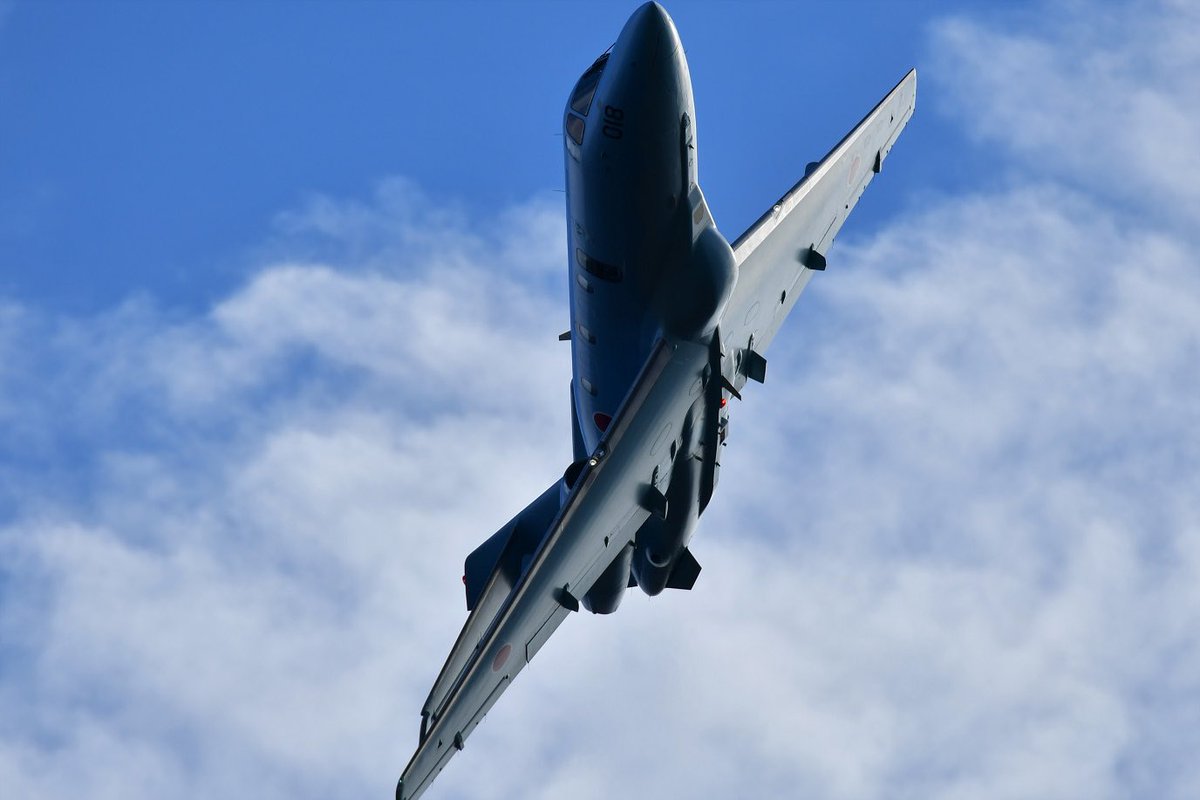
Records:
[[[851,223],[696,589],[564,625],[430,796],[1200,794],[1189,20],[934,28],[1004,186]],[[199,318],[0,307],[5,796],[388,796],[462,557],[569,458],[560,229],[394,180]]]

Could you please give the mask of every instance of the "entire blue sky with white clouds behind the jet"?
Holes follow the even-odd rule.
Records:
[[[632,7],[0,0],[0,795],[391,796],[570,458],[559,122]],[[1200,796],[1198,7],[668,11],[730,239],[917,113],[696,588],[426,796]]]

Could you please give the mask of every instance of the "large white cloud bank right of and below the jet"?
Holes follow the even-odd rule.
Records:
[[[1153,267],[1105,260],[1116,241]],[[442,780],[482,798],[1189,796],[1183,243],[1039,184],[844,246],[736,409],[697,589],[564,627],[472,740],[503,775]]]

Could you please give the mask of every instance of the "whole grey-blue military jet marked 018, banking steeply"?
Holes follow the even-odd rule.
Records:
[[[916,107],[917,73],[742,236],[696,174],[696,110],[671,17],[638,7],[563,116],[574,462],[466,559],[467,621],[396,786],[415,800],[558,626],[637,587],[691,589],[731,399],[767,375],[780,324]]]

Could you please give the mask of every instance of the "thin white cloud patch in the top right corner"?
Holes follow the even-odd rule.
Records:
[[[952,113],[1052,179],[1192,227],[1200,213],[1200,7],[1039,4],[1022,30],[935,29]],[[1001,162],[1002,163],[1002,162]]]

